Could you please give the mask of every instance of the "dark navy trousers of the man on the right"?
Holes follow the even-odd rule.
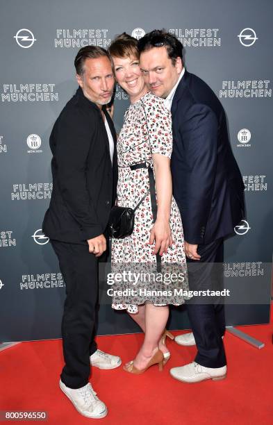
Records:
[[[199,262],[187,260],[190,290],[221,290],[224,241],[199,245]],[[226,365],[222,335],[225,332],[223,300],[220,297],[200,297],[187,302],[192,333],[197,344],[195,361],[206,367]]]

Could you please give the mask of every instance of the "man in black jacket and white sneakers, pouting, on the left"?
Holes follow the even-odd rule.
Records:
[[[100,47],[83,47],[74,65],[79,88],[50,136],[53,192],[43,231],[66,283],[60,388],[82,415],[100,418],[107,408],[88,383],[90,364],[100,369],[121,364],[94,342],[98,257],[106,251],[117,185],[115,128],[106,110],[115,80],[110,56]]]

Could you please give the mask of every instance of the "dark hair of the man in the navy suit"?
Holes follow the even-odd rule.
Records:
[[[183,44],[172,34],[167,33],[165,30],[154,30],[144,35],[138,40],[138,51],[147,51],[153,47],[163,47],[167,49],[167,54],[175,65],[176,58],[183,60]]]

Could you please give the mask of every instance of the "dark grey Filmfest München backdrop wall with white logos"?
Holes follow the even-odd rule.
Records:
[[[226,286],[238,291],[227,322],[268,323],[273,3],[2,0],[0,7],[0,341],[60,338],[65,282],[41,227],[52,191],[49,135],[77,88],[74,57],[88,44],[107,49],[123,31],[141,38],[154,28],[181,40],[188,71],[222,102],[245,183],[247,217],[225,243]],[[117,131],[128,104],[117,87]],[[188,327],[185,308],[172,308],[169,328]],[[126,313],[101,299],[100,335],[134,331]]]

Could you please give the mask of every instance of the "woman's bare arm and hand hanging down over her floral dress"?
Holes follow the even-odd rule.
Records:
[[[156,222],[151,229],[149,243],[153,244],[154,254],[160,256],[167,252],[167,248],[172,246],[172,233],[169,226],[169,217],[172,203],[172,175],[170,170],[170,160],[167,156],[153,153],[154,172],[156,177],[156,195],[158,201],[158,210]]]

